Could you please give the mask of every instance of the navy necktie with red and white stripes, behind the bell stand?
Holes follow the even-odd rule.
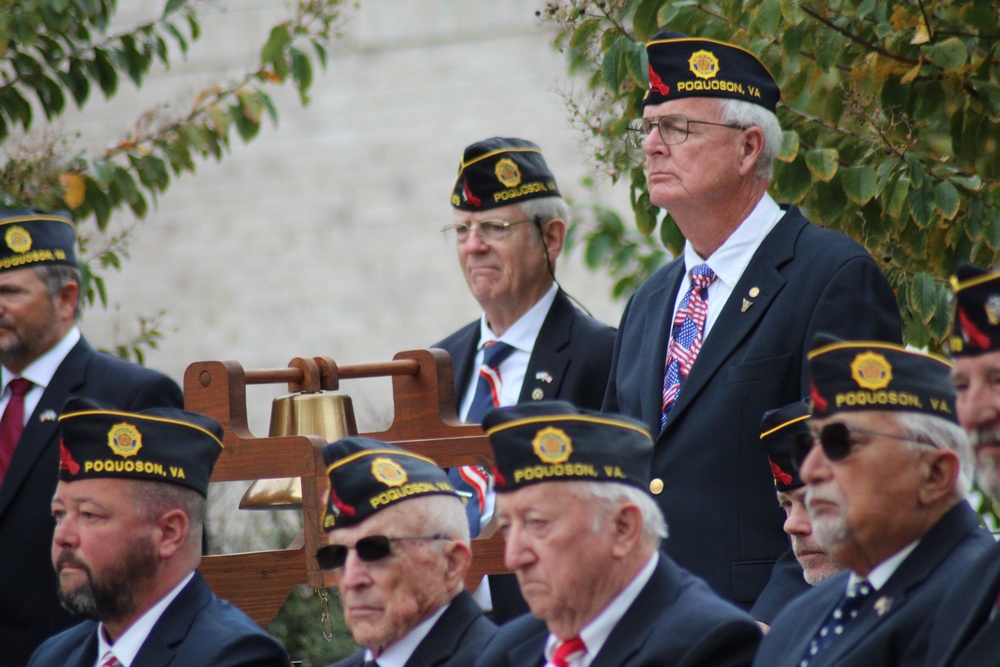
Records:
[[[482,422],[487,412],[500,405],[500,364],[513,351],[514,348],[507,343],[495,340],[486,343],[483,348],[483,365],[479,367],[476,393],[465,419],[467,423]],[[489,477],[480,466],[461,466],[448,470],[448,479],[456,491],[469,499],[465,505],[465,514],[469,519],[469,536],[475,537],[479,534],[479,518],[486,507]]]

